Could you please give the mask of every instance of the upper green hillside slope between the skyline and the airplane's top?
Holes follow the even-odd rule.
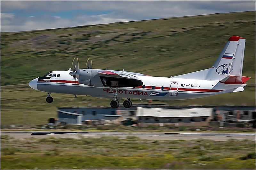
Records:
[[[255,11],[26,32],[1,32],[1,86],[67,70],[74,56],[94,68],[179,75],[212,66],[228,38],[246,38],[244,71],[255,83]]]

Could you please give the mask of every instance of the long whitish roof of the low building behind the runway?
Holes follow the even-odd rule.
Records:
[[[212,108],[195,109],[159,109],[138,107],[136,116],[148,117],[209,117],[212,116]]]

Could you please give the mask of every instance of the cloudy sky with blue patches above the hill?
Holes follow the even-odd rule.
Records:
[[[255,1],[0,1],[1,32],[255,11]]]

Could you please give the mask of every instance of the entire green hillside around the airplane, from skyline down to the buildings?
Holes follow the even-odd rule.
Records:
[[[243,92],[153,103],[255,105],[255,11],[1,32],[1,86],[28,83],[49,71],[68,70],[74,56],[79,57],[80,67],[90,57],[94,68],[167,77],[185,74],[210,68],[232,35],[246,38],[243,75],[252,78]],[[52,96],[54,102],[48,104],[46,93],[28,86],[1,88],[1,125],[44,124],[49,117],[56,117],[56,107],[109,106],[111,100]]]

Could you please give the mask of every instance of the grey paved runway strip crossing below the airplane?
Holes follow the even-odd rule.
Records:
[[[255,133],[218,133],[218,132],[96,132],[96,131],[1,131],[1,135],[9,135],[11,138],[100,138],[104,136],[116,136],[126,138],[134,135],[140,139],[148,140],[193,140],[206,138],[214,141],[227,141],[228,139],[253,140]]]

